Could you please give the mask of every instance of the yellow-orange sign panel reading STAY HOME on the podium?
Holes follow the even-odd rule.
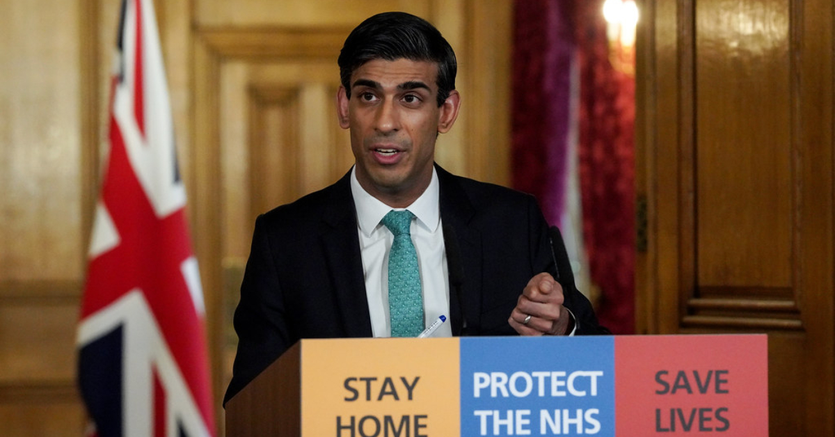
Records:
[[[302,435],[457,434],[458,356],[458,338],[304,343]]]

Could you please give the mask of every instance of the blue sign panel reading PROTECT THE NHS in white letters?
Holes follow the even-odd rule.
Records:
[[[613,337],[461,338],[460,346],[461,435],[614,437]]]

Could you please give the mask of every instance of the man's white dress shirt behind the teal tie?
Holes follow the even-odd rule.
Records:
[[[362,273],[366,282],[368,311],[374,337],[391,337],[392,323],[388,315],[388,252],[394,235],[380,221],[392,211],[368,194],[357,180],[356,169],[351,170],[351,193],[357,207],[357,232],[362,252]],[[439,316],[446,316],[431,337],[452,337],[449,323],[449,282],[447,253],[443,246],[443,226],[438,194],[438,175],[432,170],[432,180],[423,194],[406,208],[415,215],[410,232],[417,252],[423,290],[423,318],[429,326]]]

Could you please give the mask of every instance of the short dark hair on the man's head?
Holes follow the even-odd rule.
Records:
[[[438,106],[455,89],[455,52],[438,29],[409,13],[378,13],[348,35],[339,53],[339,77],[351,98],[351,75],[373,59],[430,61],[438,64]]]

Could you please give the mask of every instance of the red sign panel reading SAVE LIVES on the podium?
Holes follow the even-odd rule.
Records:
[[[618,437],[768,435],[766,335],[615,338]]]

